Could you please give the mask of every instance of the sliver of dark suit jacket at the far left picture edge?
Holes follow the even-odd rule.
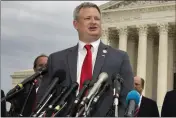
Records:
[[[5,97],[4,91],[1,90],[1,98]],[[7,111],[6,111],[6,101],[1,102],[1,117],[6,117]]]

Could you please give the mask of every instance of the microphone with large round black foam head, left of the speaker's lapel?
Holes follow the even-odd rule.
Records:
[[[65,80],[66,72],[64,70],[58,70],[58,71],[55,72],[53,77],[54,77],[54,79],[52,80],[51,84],[49,85],[49,87],[48,87],[46,93],[44,94],[44,96],[42,97],[42,99],[39,101],[39,103],[36,107],[36,110],[39,109],[42,106],[43,102],[45,101],[47,96],[53,91],[55,86],[58,83],[61,83],[63,80]]]

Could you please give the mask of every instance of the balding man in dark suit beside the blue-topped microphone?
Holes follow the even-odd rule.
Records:
[[[134,77],[134,87],[141,95],[138,108],[135,111],[135,116],[136,117],[159,117],[159,111],[158,111],[156,102],[142,95],[144,84],[145,84],[145,81],[143,78],[139,76]]]

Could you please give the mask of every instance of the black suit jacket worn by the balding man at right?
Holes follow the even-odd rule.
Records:
[[[138,117],[159,117],[157,104],[154,100],[142,96]]]

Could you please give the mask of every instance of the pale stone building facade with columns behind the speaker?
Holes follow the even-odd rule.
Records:
[[[101,39],[128,53],[134,75],[146,81],[143,94],[161,109],[176,86],[176,2],[111,1],[100,8]]]

